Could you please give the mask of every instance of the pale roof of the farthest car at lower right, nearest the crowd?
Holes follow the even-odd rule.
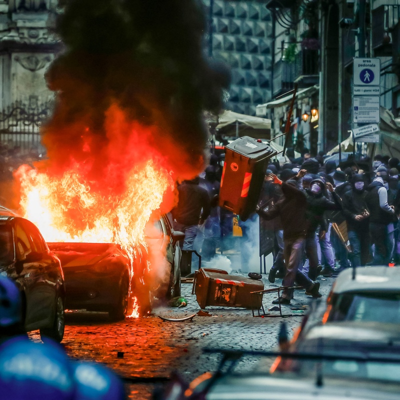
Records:
[[[356,268],[355,279],[352,279],[352,269],[348,268],[337,276],[333,293],[349,291],[381,291],[400,292],[400,268],[389,266],[359,266]]]

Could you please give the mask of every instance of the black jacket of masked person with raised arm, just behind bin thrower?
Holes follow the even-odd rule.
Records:
[[[342,210],[340,197],[334,191],[331,193],[333,201],[323,193],[313,193],[310,189],[304,190],[307,199],[307,237],[312,237],[318,225],[325,225],[323,214],[325,211]]]

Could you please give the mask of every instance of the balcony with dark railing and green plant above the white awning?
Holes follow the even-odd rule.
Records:
[[[303,49],[296,55],[294,62],[294,81],[299,86],[310,86],[319,82],[318,50]]]

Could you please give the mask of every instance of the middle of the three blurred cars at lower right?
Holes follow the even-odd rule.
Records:
[[[305,377],[316,369],[331,378],[356,378],[400,384],[400,330],[392,323],[341,321],[315,325],[286,349],[289,353],[360,354],[360,360],[291,360],[276,358],[270,372]]]

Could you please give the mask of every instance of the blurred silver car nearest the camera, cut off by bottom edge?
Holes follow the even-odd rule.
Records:
[[[209,351],[211,353],[218,350]],[[314,367],[307,373],[298,371],[274,373],[251,372],[240,373],[236,368],[237,361],[242,356],[265,356],[272,353],[262,351],[222,351],[223,358],[214,373],[205,372],[187,384],[179,375],[172,376],[171,381],[164,390],[154,392],[155,400],[394,400],[398,398],[400,383],[396,381],[364,379],[352,375],[347,365],[347,373],[341,376],[332,376],[320,368],[320,360],[314,360]],[[312,351],[315,358],[319,357],[317,351]],[[301,355],[301,354],[300,354]],[[351,355],[349,355],[351,357]],[[347,357],[347,358],[349,358]],[[366,356],[358,354],[366,359]],[[334,355],[332,356],[334,358]],[[353,359],[357,355],[353,354]],[[295,358],[291,358],[295,360]],[[294,361],[296,362],[296,361]],[[302,361],[299,361],[302,362]],[[345,368],[341,355],[337,355],[336,366]],[[400,362],[400,358],[393,357],[393,364]],[[308,365],[309,367],[309,365]]]

